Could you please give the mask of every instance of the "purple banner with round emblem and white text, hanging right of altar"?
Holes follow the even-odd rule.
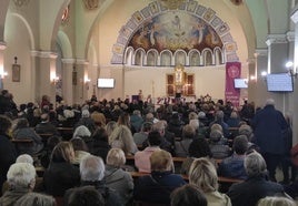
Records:
[[[234,106],[239,106],[240,90],[235,89],[234,79],[241,76],[241,63],[240,62],[227,62],[226,63],[226,102],[231,102]]]

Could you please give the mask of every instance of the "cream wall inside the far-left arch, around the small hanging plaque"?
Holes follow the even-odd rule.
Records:
[[[12,92],[17,104],[34,101],[32,95],[33,75],[31,73],[30,37],[27,28],[20,18],[9,14],[6,22],[4,39],[7,49],[4,50],[4,70],[8,76],[4,79],[4,89]],[[18,64],[21,65],[20,82],[12,82],[11,66],[18,56]]]

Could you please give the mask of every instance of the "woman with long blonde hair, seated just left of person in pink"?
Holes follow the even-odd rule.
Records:
[[[118,125],[109,136],[109,144],[112,148],[121,148],[126,155],[135,154],[138,151],[129,127]]]

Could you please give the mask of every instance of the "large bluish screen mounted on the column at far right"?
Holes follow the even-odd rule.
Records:
[[[292,92],[292,76],[289,73],[267,74],[268,92]]]

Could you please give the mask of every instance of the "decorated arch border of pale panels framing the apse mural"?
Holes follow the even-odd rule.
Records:
[[[224,22],[211,8],[206,8],[199,4],[197,1],[188,1],[183,3],[180,11],[186,11],[192,16],[196,16],[207,22],[219,35],[225,52],[226,62],[239,61],[237,55],[237,43],[234,41],[230,34],[229,25]],[[178,11],[179,11],[178,10]],[[129,21],[120,29],[117,42],[112,47],[111,64],[123,64],[125,52],[128,43],[135,32],[149,19],[169,11],[162,7],[158,1],[149,3],[140,11],[136,11]]]

